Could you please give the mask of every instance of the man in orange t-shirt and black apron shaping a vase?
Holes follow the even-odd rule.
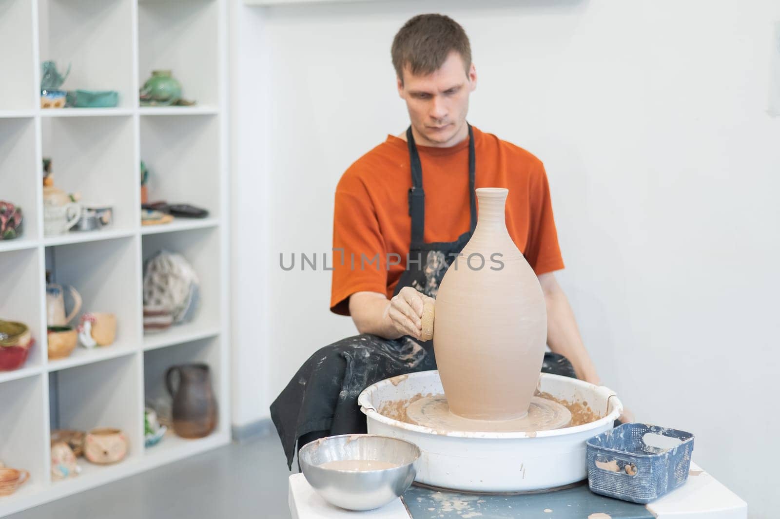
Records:
[[[410,128],[360,157],[335,193],[331,310],[360,335],[317,351],[271,405],[288,464],[296,441],[365,432],[356,398],[371,383],[435,369],[420,340],[423,305],[473,232],[478,187],[509,189],[509,235],[547,304],[553,353],[542,370],[599,383],[553,274],[563,261],[541,161],[466,122],[477,70],[463,27],[415,16],[395,35],[392,62]]]

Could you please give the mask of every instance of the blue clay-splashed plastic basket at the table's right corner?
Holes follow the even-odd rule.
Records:
[[[676,447],[647,445],[647,433],[676,438]],[[683,485],[690,470],[693,434],[644,423],[624,423],[587,440],[590,491],[633,503],[650,503]]]

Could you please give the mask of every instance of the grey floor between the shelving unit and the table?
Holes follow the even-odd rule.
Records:
[[[287,470],[274,435],[163,465],[9,519],[287,519]]]

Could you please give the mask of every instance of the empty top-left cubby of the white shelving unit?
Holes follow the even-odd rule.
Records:
[[[33,8],[34,0],[0,0],[0,111],[36,107]]]

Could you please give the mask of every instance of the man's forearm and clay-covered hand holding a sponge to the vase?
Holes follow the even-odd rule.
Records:
[[[360,334],[374,334],[386,339],[409,335],[420,339],[423,305],[434,302],[411,287],[402,288],[388,301],[378,292],[356,292],[349,298],[349,313]]]

